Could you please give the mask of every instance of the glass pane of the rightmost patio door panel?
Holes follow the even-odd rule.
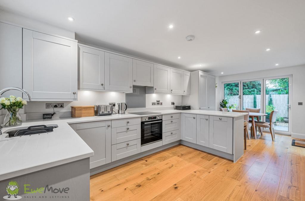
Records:
[[[266,121],[272,110],[278,110],[274,130],[289,131],[289,78],[266,80]]]

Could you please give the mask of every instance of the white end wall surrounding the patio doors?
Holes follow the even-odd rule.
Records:
[[[292,137],[305,139],[304,114],[305,114],[305,65],[286,68],[277,68],[264,71],[255,71],[249,73],[221,76],[217,78],[217,108],[222,99],[222,82],[239,81],[254,78],[265,78],[274,76],[292,75]],[[298,102],[303,102],[303,106],[298,106]]]

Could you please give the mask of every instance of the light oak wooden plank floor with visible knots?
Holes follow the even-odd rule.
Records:
[[[305,200],[305,148],[270,133],[236,162],[177,145],[90,177],[90,200]]]

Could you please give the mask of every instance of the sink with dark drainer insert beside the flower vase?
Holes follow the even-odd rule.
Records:
[[[29,126],[29,127],[20,127],[18,129],[9,129],[6,130],[4,133],[9,134],[6,137],[21,137],[24,135],[34,135],[34,134],[41,134],[41,133],[50,133],[53,132],[54,128],[57,128],[57,124],[51,125],[36,125],[36,126]]]

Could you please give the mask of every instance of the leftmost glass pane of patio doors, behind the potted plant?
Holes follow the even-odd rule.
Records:
[[[233,108],[239,109],[239,82],[225,83],[224,84],[224,99],[227,100],[227,106],[233,105]]]

